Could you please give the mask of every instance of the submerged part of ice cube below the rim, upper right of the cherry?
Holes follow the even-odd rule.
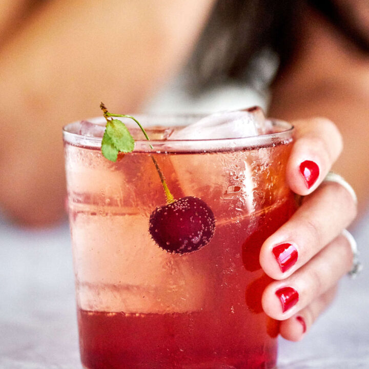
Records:
[[[170,160],[183,196],[199,197],[217,224],[254,211],[252,158],[249,151],[172,155]]]

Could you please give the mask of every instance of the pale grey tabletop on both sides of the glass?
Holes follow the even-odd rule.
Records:
[[[369,264],[369,217],[354,234]],[[79,369],[69,228],[0,219],[0,368]],[[369,368],[369,268],[344,278],[334,304],[298,343],[280,339],[279,369]]]

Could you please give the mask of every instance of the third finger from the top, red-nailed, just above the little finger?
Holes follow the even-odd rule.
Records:
[[[261,298],[264,312],[277,320],[290,318],[332,288],[351,270],[352,263],[350,242],[340,235],[289,278],[265,288]]]

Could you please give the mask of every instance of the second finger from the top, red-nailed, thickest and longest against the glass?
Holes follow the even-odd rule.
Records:
[[[336,182],[323,182],[289,221],[263,243],[259,261],[273,279],[284,279],[331,242],[356,216],[356,202]]]

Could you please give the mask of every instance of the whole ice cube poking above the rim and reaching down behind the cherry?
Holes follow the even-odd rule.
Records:
[[[191,149],[203,151],[201,139],[242,138],[268,133],[270,121],[261,108],[228,111],[206,116],[194,124],[174,131],[169,139],[194,140]],[[233,140],[232,140],[233,141]],[[236,142],[220,147],[232,148]],[[254,211],[253,157],[251,152],[219,150],[214,142],[214,153],[171,157],[175,174],[185,196],[198,196],[207,203],[215,202],[216,218],[238,217]],[[210,151],[212,151],[210,150]],[[223,219],[224,220],[224,219]],[[224,220],[226,221],[226,220]]]

